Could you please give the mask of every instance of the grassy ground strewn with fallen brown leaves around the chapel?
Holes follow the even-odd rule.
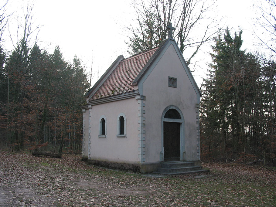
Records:
[[[61,159],[0,151],[0,206],[276,206],[276,171],[203,164],[210,175],[150,178]]]

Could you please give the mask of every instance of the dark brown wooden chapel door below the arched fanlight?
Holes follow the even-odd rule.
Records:
[[[164,122],[164,161],[180,160],[180,123]]]

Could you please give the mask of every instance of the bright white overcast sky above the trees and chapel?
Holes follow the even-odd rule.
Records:
[[[22,6],[26,8],[28,2],[32,3],[31,0],[9,0],[7,12],[15,12],[9,25],[13,41],[16,41],[16,16],[22,16]],[[49,53],[53,52],[55,46],[60,46],[63,57],[69,62],[77,55],[86,66],[87,73],[93,62],[92,82],[95,83],[119,55],[123,54],[125,58],[129,56],[124,27],[136,17],[131,2],[132,0],[37,0],[33,8],[32,26],[35,28],[40,25],[39,46],[46,48]],[[252,18],[255,15],[252,5],[253,0],[217,0],[209,12],[220,26],[228,26],[236,31],[240,30],[238,26],[243,29],[242,49],[247,48],[247,51],[254,51],[254,43],[257,41],[252,32]],[[10,38],[5,36],[5,40],[4,48],[10,50]],[[204,47],[194,60],[200,65],[193,72],[199,87],[202,82],[200,77],[205,76],[207,63],[211,61],[206,51],[210,52],[210,48]],[[188,58],[190,54],[183,56]]]

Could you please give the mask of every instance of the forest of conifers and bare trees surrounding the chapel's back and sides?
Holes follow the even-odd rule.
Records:
[[[256,4],[253,23],[262,28],[259,53],[241,50],[242,28],[219,27],[208,0],[149,0],[132,3],[137,18],[130,23],[128,53],[135,55],[154,48],[167,37],[166,26],[173,22],[173,36],[181,51],[192,59],[211,45],[207,76],[199,85],[201,158],[203,160],[276,164],[276,73],[274,0]],[[82,111],[80,104],[91,87],[93,71],[75,56],[63,58],[59,46],[53,53],[39,47],[39,27],[33,25],[33,4],[22,8],[24,18],[9,25],[13,13],[0,12],[0,146],[10,151],[49,150],[80,153]],[[201,22],[205,19],[205,24]],[[208,18],[207,18],[208,19]],[[196,25],[200,25],[196,27]],[[12,27],[17,33],[11,35]],[[21,31],[21,32],[20,32]],[[10,33],[13,48],[3,48],[2,37]],[[197,36],[194,36],[197,34]],[[6,36],[5,36],[6,37]],[[94,71],[95,73],[95,71]]]

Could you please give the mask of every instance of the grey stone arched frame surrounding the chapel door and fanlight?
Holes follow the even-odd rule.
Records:
[[[174,118],[165,118],[165,114],[167,113],[168,110],[170,109],[175,109],[179,115],[180,115],[180,119],[174,119]],[[175,123],[180,123],[180,160],[183,161],[184,158],[184,154],[185,154],[185,142],[184,142],[184,116],[181,112],[181,110],[173,105],[170,105],[168,107],[166,107],[163,110],[162,116],[161,116],[161,124],[162,124],[162,137],[161,137],[161,152],[159,155],[160,158],[160,162],[164,162],[164,122],[175,122]]]

